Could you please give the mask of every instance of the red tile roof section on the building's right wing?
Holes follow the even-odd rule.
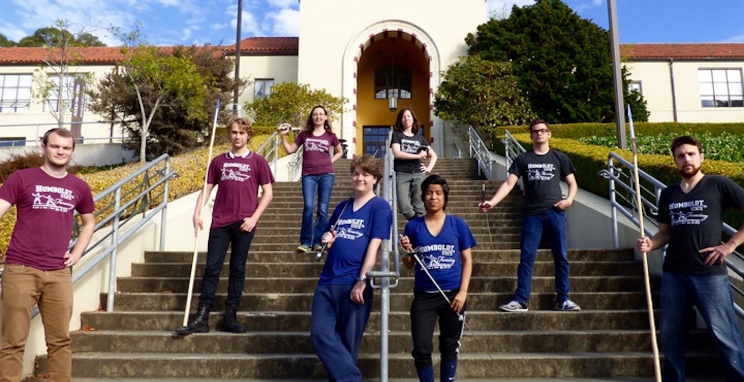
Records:
[[[744,44],[620,44],[625,59],[744,59]]]

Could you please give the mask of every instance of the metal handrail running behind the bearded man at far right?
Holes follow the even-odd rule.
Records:
[[[638,205],[635,202],[635,180],[632,177],[632,171],[632,162],[629,162],[614,152],[610,152],[607,156],[607,168],[604,168],[598,174],[600,177],[609,180],[609,200],[612,207],[612,239],[615,248],[619,247],[618,211],[627,217],[633,224],[640,227],[640,222],[638,221],[638,218],[636,218],[636,216],[638,216]],[[667,185],[640,168],[638,168],[638,182],[641,183],[641,208],[644,208],[644,217],[647,217],[647,221],[644,220],[644,223],[648,222],[658,227],[658,222],[653,217],[658,216],[657,206],[659,197],[661,197],[661,190],[667,188]],[[618,198],[623,202],[618,202]],[[644,234],[649,237],[653,236],[653,232],[647,227],[648,225],[644,226]],[[733,235],[737,232],[736,229],[726,223],[723,223],[723,231],[729,235]],[[662,256],[666,254],[666,246],[661,248],[661,253]],[[744,260],[744,256],[737,251],[734,251],[734,256]],[[728,257],[725,259],[725,264],[728,269],[738,274],[740,277],[744,277],[744,269],[741,269]],[[744,295],[744,292],[737,288],[733,283],[731,284],[731,289]],[[739,317],[744,318],[744,309],[739,306],[736,301],[734,301],[734,310],[737,312]]]

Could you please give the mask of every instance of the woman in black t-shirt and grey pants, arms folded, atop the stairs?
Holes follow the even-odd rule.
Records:
[[[421,201],[421,182],[437,163],[434,148],[429,146],[423,135],[418,134],[420,128],[414,111],[403,108],[398,113],[390,142],[398,210],[408,221],[426,214]],[[426,157],[430,158],[428,166],[421,163],[421,159]]]

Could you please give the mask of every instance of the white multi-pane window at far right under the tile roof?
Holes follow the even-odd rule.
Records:
[[[744,107],[741,69],[700,69],[698,82],[703,108]]]

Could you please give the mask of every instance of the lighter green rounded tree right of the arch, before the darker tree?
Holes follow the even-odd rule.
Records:
[[[534,118],[509,63],[480,56],[463,56],[443,74],[434,115],[489,133],[496,126],[522,125]]]

